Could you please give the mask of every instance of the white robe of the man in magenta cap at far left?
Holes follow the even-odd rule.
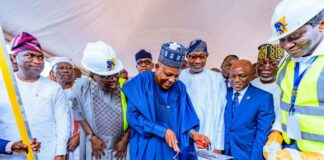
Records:
[[[1,74],[0,79],[0,138],[18,141],[21,138]],[[32,137],[41,142],[38,159],[53,160],[55,155],[65,155],[70,110],[63,89],[45,77],[32,83],[16,80]],[[0,160],[22,159],[26,159],[25,154],[0,155]]]

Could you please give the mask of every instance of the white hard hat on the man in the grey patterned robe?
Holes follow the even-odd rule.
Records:
[[[92,73],[108,76],[120,72],[124,66],[116,52],[102,41],[90,42],[83,51],[81,64]]]

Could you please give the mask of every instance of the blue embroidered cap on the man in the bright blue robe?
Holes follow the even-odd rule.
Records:
[[[187,49],[176,42],[164,43],[161,47],[159,61],[169,67],[181,68]]]

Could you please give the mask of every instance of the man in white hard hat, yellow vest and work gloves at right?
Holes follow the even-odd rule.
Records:
[[[269,136],[268,159],[324,159],[323,10],[323,0],[283,0],[274,10],[269,42],[288,55],[277,73],[282,129]]]

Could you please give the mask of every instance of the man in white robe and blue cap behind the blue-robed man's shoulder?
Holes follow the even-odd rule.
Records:
[[[199,132],[210,139],[215,153],[221,153],[224,149],[226,86],[220,73],[204,68],[207,57],[206,43],[192,41],[187,53],[189,68],[181,71],[179,79],[186,85],[199,117]]]

